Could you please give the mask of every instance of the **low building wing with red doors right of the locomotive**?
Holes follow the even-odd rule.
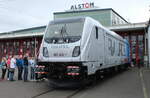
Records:
[[[108,28],[129,41],[130,57],[135,64],[138,59],[140,59],[142,64],[148,62],[146,59],[148,57],[147,22],[111,26]]]

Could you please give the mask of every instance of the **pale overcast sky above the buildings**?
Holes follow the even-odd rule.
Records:
[[[53,12],[85,2],[113,8],[132,23],[148,21],[150,16],[150,0],[0,0],[0,32],[46,25],[53,20]]]

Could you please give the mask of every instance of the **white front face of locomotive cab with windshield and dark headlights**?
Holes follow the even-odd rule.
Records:
[[[39,60],[46,62],[80,61],[83,27],[84,19],[82,18],[50,22],[42,41]]]

